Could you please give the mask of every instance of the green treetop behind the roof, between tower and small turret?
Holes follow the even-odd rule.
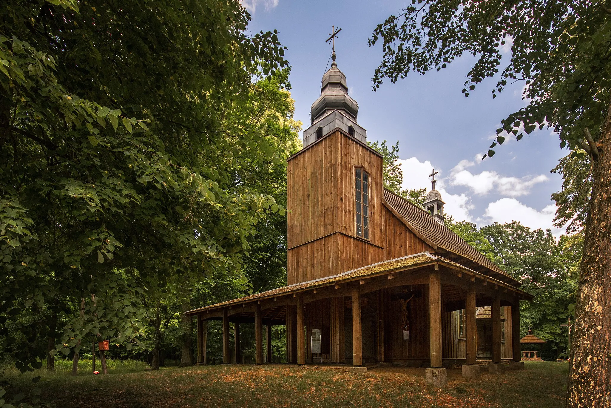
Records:
[[[411,201],[412,204],[424,208],[424,202],[426,201],[426,188],[411,188],[404,190],[401,186],[403,185],[403,170],[399,161],[399,142],[395,143],[394,146],[387,146],[386,140],[382,143],[379,142],[367,142],[371,149],[377,150],[382,154],[382,175],[384,176],[384,188],[392,191],[393,193],[403,197],[404,199]]]

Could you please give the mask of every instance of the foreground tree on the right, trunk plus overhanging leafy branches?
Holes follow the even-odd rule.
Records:
[[[551,127],[560,146],[583,149],[592,162],[592,193],[585,227],[576,306],[569,407],[611,404],[611,8],[607,1],[412,0],[398,17],[378,24],[369,40],[383,40],[373,76],[392,82],[409,72],[440,70],[457,57],[477,57],[467,73],[466,97],[485,78],[498,78],[492,97],[508,81],[523,81],[527,105],[501,121],[495,141],[521,139]],[[499,72],[503,46],[509,61]],[[486,156],[485,156],[486,157]]]

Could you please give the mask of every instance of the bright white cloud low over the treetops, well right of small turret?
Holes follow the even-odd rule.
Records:
[[[490,223],[510,223],[511,221],[519,221],[531,229],[547,229],[552,230],[555,237],[560,237],[565,233],[565,229],[556,228],[554,216],[556,206],[553,204],[538,211],[532,207],[525,206],[515,198],[502,198],[488,204],[488,208],[484,213],[484,217],[489,218]]]

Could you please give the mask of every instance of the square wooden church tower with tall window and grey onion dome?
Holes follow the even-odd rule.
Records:
[[[382,156],[367,146],[336,59],[333,51],[304,148],[288,158],[288,284],[373,264],[384,246]]]

